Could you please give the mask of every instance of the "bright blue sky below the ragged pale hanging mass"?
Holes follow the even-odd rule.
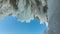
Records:
[[[45,29],[46,25],[40,24],[37,19],[30,23],[21,23],[12,16],[0,20],[0,34],[42,34]]]

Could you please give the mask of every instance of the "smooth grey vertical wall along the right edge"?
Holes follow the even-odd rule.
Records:
[[[48,0],[48,34],[60,34],[60,0]]]

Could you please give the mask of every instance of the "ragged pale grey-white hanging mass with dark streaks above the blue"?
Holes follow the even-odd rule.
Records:
[[[47,8],[47,0],[0,0],[0,18],[18,16],[21,22],[37,18],[48,25]]]

